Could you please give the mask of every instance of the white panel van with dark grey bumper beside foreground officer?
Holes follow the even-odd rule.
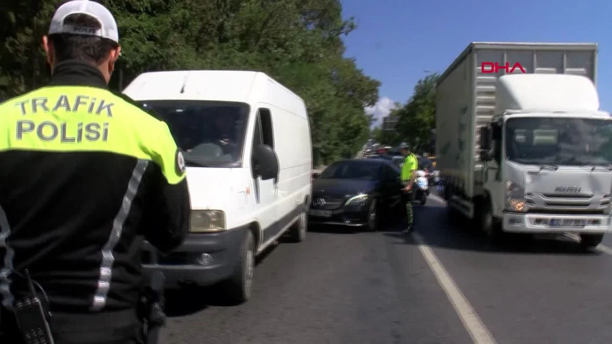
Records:
[[[165,121],[187,165],[191,231],[168,256],[145,244],[145,271],[169,286],[219,285],[247,301],[255,256],[283,233],[304,240],[312,176],[308,114],[264,73],[151,72],[124,93]]]

